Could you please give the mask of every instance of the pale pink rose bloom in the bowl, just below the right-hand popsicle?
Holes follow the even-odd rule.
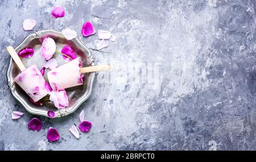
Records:
[[[64,109],[68,106],[68,96],[65,90],[52,91],[50,94],[50,101],[53,101],[57,109]]]

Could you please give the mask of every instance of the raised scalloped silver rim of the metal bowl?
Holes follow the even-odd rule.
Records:
[[[21,46],[23,46],[24,44],[26,44],[26,41],[30,38],[38,38],[39,36],[42,36],[46,33],[52,33],[52,34],[58,34],[58,35],[62,35],[63,34],[59,31],[55,31],[55,30],[41,30],[38,32],[33,32],[32,34],[28,35],[16,48],[15,51],[17,52],[17,49],[19,49]],[[84,44],[81,43],[81,41],[77,38],[72,39],[71,41],[73,41],[76,45],[78,45],[83,51],[86,51],[86,56],[88,57],[89,60],[89,64],[94,66],[94,59],[92,54],[90,53],[89,49],[85,47]],[[87,55],[88,54],[88,55]],[[10,92],[13,95],[14,98],[16,98],[24,107],[25,109],[31,113],[31,114],[35,114],[35,115],[43,115],[45,117],[48,117],[47,115],[47,110],[41,109],[38,110],[34,107],[31,107],[29,105],[27,105],[26,101],[24,101],[24,99],[20,98],[18,95],[16,95],[14,93],[15,89],[13,87],[13,80],[10,77],[10,73],[11,73],[11,67],[13,66],[13,59],[10,58],[10,63],[9,63],[9,67],[7,69],[7,85],[9,86]],[[76,111],[76,109],[84,102],[86,101],[86,99],[89,98],[90,94],[92,93],[92,87],[93,87],[93,81],[95,78],[95,72],[91,73],[92,77],[90,77],[90,84],[88,86],[88,88],[86,89],[87,94],[85,96],[82,96],[80,101],[77,102],[75,105],[73,105],[72,107],[68,107],[66,109],[62,109],[57,111],[57,113],[55,114],[54,118],[59,118],[59,117],[64,117],[65,115],[71,114],[74,111]]]

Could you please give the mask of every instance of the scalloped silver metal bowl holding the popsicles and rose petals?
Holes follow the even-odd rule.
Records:
[[[76,55],[80,57],[82,67],[94,65],[93,56],[91,55],[89,49],[86,48],[77,38],[67,40],[63,34],[61,34],[61,32],[54,30],[43,30],[28,35],[27,38],[25,38],[22,43],[15,48],[17,53],[26,47],[34,48],[34,56],[32,56],[31,59],[20,57],[25,67],[30,67],[30,65],[36,64],[38,68],[41,69],[44,66],[46,61],[44,61],[40,55],[40,47],[43,39],[47,37],[55,40],[58,51],[61,51],[65,45],[71,46],[73,51],[76,52]],[[55,53],[53,57],[56,59],[59,66],[65,64],[65,61],[60,54]],[[46,69],[46,73],[47,72],[48,69]],[[82,102],[86,101],[86,99],[88,99],[89,95],[92,93],[93,80],[95,77],[95,73],[86,73],[84,74],[85,77],[83,85],[65,89],[69,98],[69,106],[65,109],[59,110],[55,108],[53,102],[47,101],[49,96],[46,96],[40,100],[43,103],[42,106],[37,106],[30,102],[28,95],[14,82],[14,78],[19,73],[20,70],[18,66],[14,63],[13,59],[10,59],[9,68],[7,69],[7,84],[9,85],[11,94],[25,107],[28,112],[48,117],[47,112],[52,110],[55,112],[54,118],[63,117],[73,113],[82,104]],[[48,81],[47,74],[44,74],[44,78]]]

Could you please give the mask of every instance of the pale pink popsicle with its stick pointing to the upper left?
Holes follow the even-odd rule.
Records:
[[[44,80],[44,77],[40,73],[38,67],[36,67],[36,65],[32,65],[29,68],[25,68],[13,47],[7,47],[7,51],[22,71],[14,78],[16,84],[18,84],[20,88],[22,88],[24,92],[26,92],[35,102],[46,96],[48,94],[48,90],[46,88],[47,82]]]

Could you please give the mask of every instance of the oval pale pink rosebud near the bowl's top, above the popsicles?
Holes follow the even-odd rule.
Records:
[[[44,59],[49,60],[53,56],[56,51],[56,44],[52,38],[45,38],[42,47],[41,47],[41,55]]]

